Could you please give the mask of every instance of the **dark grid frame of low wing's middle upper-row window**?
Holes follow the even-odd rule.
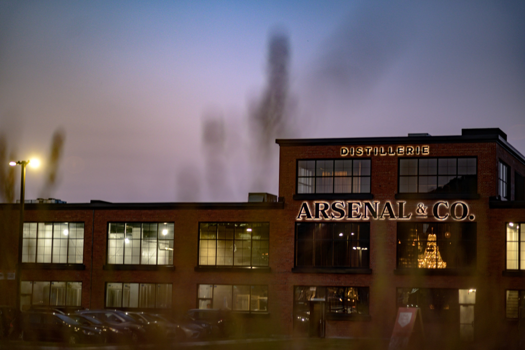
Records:
[[[173,224],[173,248],[171,249],[171,251],[173,252],[172,253],[172,262],[171,263],[167,263],[167,264],[159,264],[159,225],[160,224]],[[124,247],[122,248],[123,249],[123,255],[122,255],[122,263],[110,263],[109,262],[109,253],[110,253],[110,244],[109,244],[109,241],[110,241],[110,228],[111,228],[111,224],[123,224],[124,225],[124,242],[125,240],[127,239],[126,236],[125,236],[125,228],[127,227],[127,225],[133,225],[133,224],[140,224],[140,248],[139,248],[139,251],[140,251],[140,254],[139,254],[139,263],[138,264],[134,264],[134,263],[125,263],[125,258],[127,255],[125,255],[125,249]],[[142,263],[142,248],[143,248],[143,230],[144,230],[144,227],[143,225],[144,224],[157,224],[157,236],[156,236],[156,252],[155,252],[155,264],[144,264]],[[144,267],[144,266],[173,266],[174,265],[174,262],[175,262],[175,259],[174,259],[174,255],[175,255],[175,223],[174,222],[170,222],[170,221],[108,221],[107,222],[107,228],[106,228],[106,232],[107,232],[107,235],[106,235],[106,264],[107,266],[112,266],[112,267],[115,267],[115,266],[141,266],[141,267]],[[115,239],[117,240],[117,239]],[[133,240],[133,239],[132,239]],[[170,241],[170,239],[164,239],[165,241]],[[131,255],[131,257],[133,258],[133,255]],[[169,260],[169,259],[168,259]],[[117,267],[117,269],[119,269],[119,267]]]

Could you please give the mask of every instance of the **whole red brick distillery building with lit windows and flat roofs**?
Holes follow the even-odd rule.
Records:
[[[228,308],[247,334],[327,337],[388,337],[408,305],[428,339],[518,346],[525,157],[505,133],[277,143],[278,197],[29,203],[22,237],[0,204],[0,304]]]

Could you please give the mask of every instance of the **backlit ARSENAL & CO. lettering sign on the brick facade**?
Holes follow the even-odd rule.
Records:
[[[297,215],[298,220],[409,220],[428,217],[474,220],[468,205],[460,201],[439,201],[430,206],[418,203],[414,207],[401,201],[303,202]]]

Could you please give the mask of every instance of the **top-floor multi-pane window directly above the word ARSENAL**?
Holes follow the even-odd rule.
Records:
[[[297,161],[297,193],[370,193],[370,159]]]

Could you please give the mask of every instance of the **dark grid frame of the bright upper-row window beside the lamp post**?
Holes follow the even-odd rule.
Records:
[[[35,237],[34,238],[31,238],[31,236],[30,236],[30,225],[31,224],[36,224],[36,233],[35,233]],[[40,224],[44,224],[44,225],[45,224],[50,224],[51,225],[52,230],[51,230],[50,238],[46,238],[46,237],[40,238],[39,237],[38,232],[39,232]],[[60,224],[60,225],[67,224],[67,230],[68,230],[67,239],[55,237],[55,227],[56,227],[57,224]],[[81,239],[79,239],[77,237],[71,238],[71,236],[70,236],[71,224],[75,224],[75,225],[81,224],[82,225],[82,238]],[[26,225],[27,225],[27,230],[28,230],[27,238],[24,237],[24,231],[25,231]],[[20,240],[21,240],[20,241],[20,251],[19,251],[20,254],[19,254],[18,261],[21,264],[46,264],[46,265],[51,265],[51,264],[53,264],[53,265],[55,265],[55,264],[57,264],[57,265],[75,265],[75,264],[78,264],[78,265],[80,265],[80,264],[83,264],[83,262],[84,262],[84,248],[85,248],[83,242],[84,242],[84,234],[85,234],[85,231],[86,231],[85,228],[86,228],[86,224],[83,221],[70,221],[70,222],[62,222],[62,221],[47,221],[47,222],[46,221],[27,221],[27,222],[24,222],[24,228],[23,228],[23,231],[22,231],[22,237],[20,238]],[[77,226],[76,230],[78,230],[78,226]],[[46,239],[50,239],[51,240],[51,253],[49,254],[50,257],[51,257],[50,258],[51,261],[50,262],[39,262],[38,261],[39,241],[46,240]],[[35,240],[35,260],[34,261],[29,261],[29,256],[30,256],[30,254],[29,254],[29,241],[30,240]],[[53,261],[54,256],[55,256],[53,254],[53,252],[54,252],[54,250],[56,248],[55,247],[55,240],[58,240],[58,241],[65,240],[65,241],[67,241],[67,245],[66,245],[66,262],[54,262]],[[70,241],[72,241],[72,240],[75,240],[75,241],[82,240],[82,254],[81,254],[81,256],[82,256],[81,260],[82,261],[81,262],[76,262],[76,258],[79,255],[79,254],[76,253],[76,247],[77,247],[76,243],[77,242],[75,242],[75,248],[72,248],[71,245],[70,245]],[[27,254],[27,260],[28,261],[25,261],[25,262],[23,261],[24,255],[25,255],[24,254],[24,241],[28,241],[28,246],[27,246],[28,247],[28,254]],[[44,246],[44,248],[45,248],[45,246]],[[59,248],[60,248],[60,246],[59,246]],[[69,262],[69,256],[70,256],[69,249],[70,248],[75,249],[75,262]],[[44,254],[44,256],[45,255],[47,255],[47,254]],[[60,257],[60,254],[58,254],[58,256]]]

